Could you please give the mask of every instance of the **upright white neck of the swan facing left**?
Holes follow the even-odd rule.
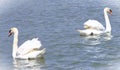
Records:
[[[14,33],[13,52],[12,52],[13,58],[16,57],[17,49],[18,49],[18,31]]]

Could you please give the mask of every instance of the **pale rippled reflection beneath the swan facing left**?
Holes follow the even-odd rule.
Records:
[[[14,70],[40,70],[45,65],[44,58],[32,60],[14,59]]]

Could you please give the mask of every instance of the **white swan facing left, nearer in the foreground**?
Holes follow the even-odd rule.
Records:
[[[31,59],[42,57],[45,53],[45,48],[41,48],[41,42],[38,38],[33,38],[32,40],[27,40],[18,48],[18,29],[16,27],[12,27],[9,31],[9,36],[14,33],[14,40],[13,40],[13,58],[19,59]]]

